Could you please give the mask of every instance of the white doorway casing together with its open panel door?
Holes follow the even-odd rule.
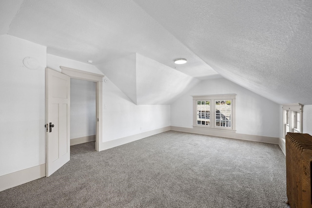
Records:
[[[70,160],[70,78],[96,82],[96,151],[102,150],[102,78],[104,75],[60,66],[46,68],[46,176]],[[52,131],[54,129],[54,131]]]

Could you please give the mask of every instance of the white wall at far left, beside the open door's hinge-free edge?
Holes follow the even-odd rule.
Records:
[[[45,46],[0,36],[0,176],[45,163],[45,67]]]

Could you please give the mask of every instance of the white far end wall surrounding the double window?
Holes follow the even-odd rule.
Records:
[[[192,95],[236,94],[236,133],[279,136],[279,105],[233,82],[203,80],[171,105],[171,126],[193,128]]]

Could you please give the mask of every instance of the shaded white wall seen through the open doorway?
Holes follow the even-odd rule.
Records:
[[[96,134],[96,82],[70,80],[70,138]]]

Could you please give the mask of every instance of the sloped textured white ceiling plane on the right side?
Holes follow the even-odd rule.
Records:
[[[225,78],[312,104],[311,0],[135,0]]]

